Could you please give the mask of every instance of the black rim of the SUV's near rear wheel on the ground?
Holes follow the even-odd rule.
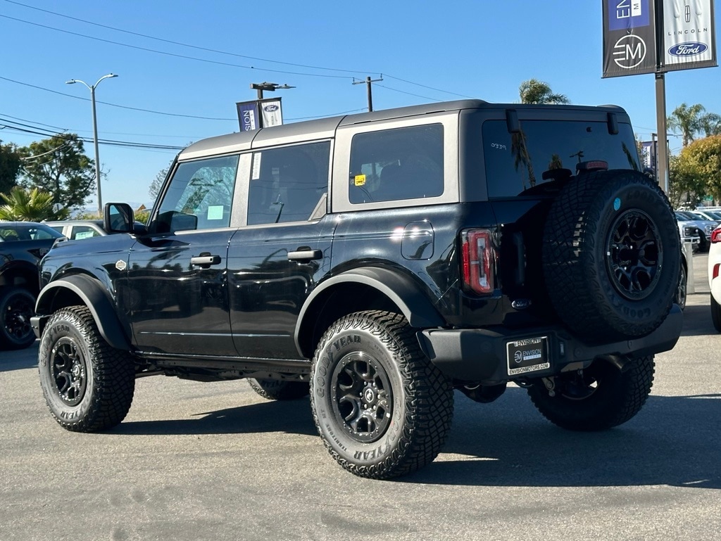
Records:
[[[375,442],[392,417],[392,388],[384,367],[368,354],[352,352],[332,375],[332,407],[337,423],[358,442]]]

